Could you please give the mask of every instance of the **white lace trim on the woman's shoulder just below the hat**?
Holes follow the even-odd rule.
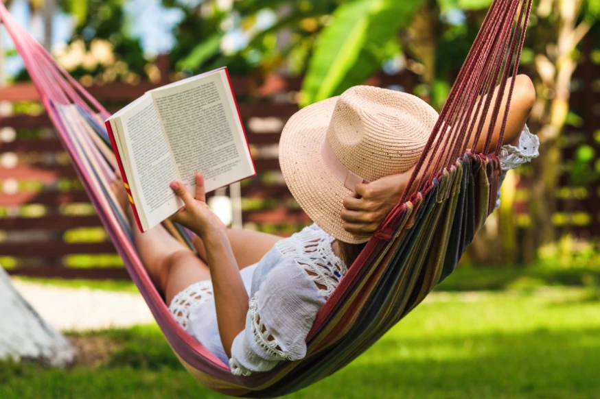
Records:
[[[313,225],[293,234],[290,239],[275,243],[281,254],[294,258],[303,267],[325,299],[330,297],[348,271],[345,263],[332,250],[334,240]]]

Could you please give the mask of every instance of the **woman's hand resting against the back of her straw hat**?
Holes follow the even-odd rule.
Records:
[[[353,234],[375,232],[400,201],[412,173],[413,169],[400,175],[380,178],[369,184],[357,184],[355,192],[344,198],[341,215],[344,230]]]

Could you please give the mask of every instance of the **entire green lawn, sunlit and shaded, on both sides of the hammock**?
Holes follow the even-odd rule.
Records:
[[[589,292],[434,293],[345,369],[289,398],[598,398],[600,302]],[[74,338],[97,343],[96,361],[69,371],[5,363],[0,398],[222,398],[183,370],[156,326]]]

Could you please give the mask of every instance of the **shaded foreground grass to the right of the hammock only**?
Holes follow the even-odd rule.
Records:
[[[294,398],[598,398],[600,329],[384,337]]]

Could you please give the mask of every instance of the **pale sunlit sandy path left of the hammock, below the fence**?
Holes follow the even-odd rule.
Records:
[[[53,287],[13,280],[14,287],[49,324],[62,331],[125,328],[154,322],[137,293]]]

